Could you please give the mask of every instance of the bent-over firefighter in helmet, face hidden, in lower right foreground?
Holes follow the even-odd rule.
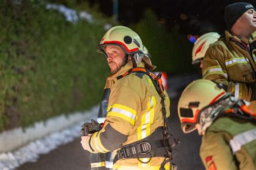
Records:
[[[256,113],[249,104],[204,79],[190,83],[181,94],[181,129],[203,135],[200,157],[206,169],[256,168]]]

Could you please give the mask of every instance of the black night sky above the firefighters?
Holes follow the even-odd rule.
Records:
[[[91,5],[98,3],[100,10],[112,16],[112,0],[87,0]],[[119,0],[118,20],[124,26],[142,19],[144,9],[150,8],[167,29],[178,28],[184,34],[201,35],[210,31],[224,33],[225,6],[235,2],[248,2],[254,7],[256,1],[228,0]]]

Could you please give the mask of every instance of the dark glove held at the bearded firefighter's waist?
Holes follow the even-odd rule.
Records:
[[[82,129],[80,130],[81,136],[88,136],[90,133],[95,133],[102,129],[102,124],[99,124],[97,121],[91,119],[91,123],[84,123]]]

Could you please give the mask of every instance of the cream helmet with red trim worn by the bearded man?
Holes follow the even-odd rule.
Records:
[[[126,55],[131,55],[138,65],[144,56],[142,39],[139,35],[125,26],[114,26],[105,33],[99,43],[97,52],[105,54],[107,45],[122,47]],[[107,57],[107,55],[105,54]]]

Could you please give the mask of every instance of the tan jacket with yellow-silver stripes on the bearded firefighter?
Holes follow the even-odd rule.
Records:
[[[144,67],[144,63],[140,63],[138,67]],[[110,88],[110,97],[106,122],[102,130],[92,134],[87,140],[87,147],[92,153],[114,151],[114,157],[115,150],[149,136],[159,126],[164,125],[161,97],[149,76],[144,73],[131,73],[117,79],[131,68],[130,61],[119,72],[107,78],[105,88]],[[165,95],[168,117],[170,101],[166,91]],[[140,160],[146,162],[149,158]],[[152,158],[149,163],[142,164],[137,159],[120,159],[113,168],[125,166],[148,169],[158,167],[163,160],[164,158]]]

